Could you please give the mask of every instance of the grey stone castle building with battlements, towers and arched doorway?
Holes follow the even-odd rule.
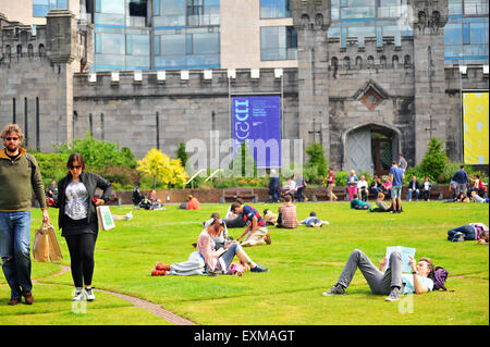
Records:
[[[230,2],[240,15],[241,2]],[[244,2],[243,10],[258,3]],[[234,65],[223,27],[222,63],[204,69],[101,71],[94,69],[93,21],[56,9],[34,32],[0,14],[1,126],[19,123],[26,146],[42,151],[87,132],[136,157],[151,148],[173,156],[193,138],[212,151],[212,134],[232,136],[233,96],[273,95],[281,100],[281,138],[302,139],[303,148],[321,144],[335,170],[383,174],[399,152],[417,164],[431,137],[463,161],[462,90],[488,92],[488,52],[486,64],[444,64],[448,0],[408,0],[411,35],[363,37],[329,36],[339,1],[286,2],[294,59]],[[230,18],[221,17],[225,26]],[[234,54],[240,61],[236,47]]]

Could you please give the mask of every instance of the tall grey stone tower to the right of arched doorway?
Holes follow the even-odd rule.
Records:
[[[444,26],[448,0],[409,0],[415,55],[415,162],[432,137],[445,134]]]

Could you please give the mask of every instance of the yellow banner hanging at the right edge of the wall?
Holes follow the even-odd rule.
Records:
[[[463,94],[465,164],[488,164],[488,91]]]

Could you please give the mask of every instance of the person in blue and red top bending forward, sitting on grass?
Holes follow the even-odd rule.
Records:
[[[264,243],[268,245],[271,244],[270,235],[267,232],[266,221],[253,206],[243,206],[240,202],[233,202],[231,211],[242,215],[247,225],[242,235],[236,237],[236,241],[240,241],[240,239],[246,235],[242,246],[255,246]]]

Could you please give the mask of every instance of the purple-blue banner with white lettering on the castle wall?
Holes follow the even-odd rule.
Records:
[[[281,97],[233,97],[233,148],[248,140],[257,168],[281,166]]]

